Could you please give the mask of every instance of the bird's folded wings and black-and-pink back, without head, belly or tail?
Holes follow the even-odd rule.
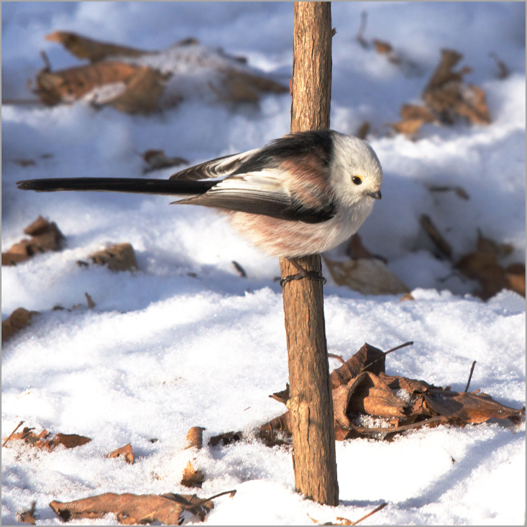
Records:
[[[335,216],[335,197],[325,194],[313,183],[313,174],[317,173],[319,180],[328,177],[331,133],[287,135],[264,148],[227,155],[177,172],[170,179],[225,179],[200,196],[174,203],[306,223],[327,221]]]

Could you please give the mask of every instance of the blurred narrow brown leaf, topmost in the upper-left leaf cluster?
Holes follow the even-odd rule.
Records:
[[[109,56],[139,57],[145,53],[151,53],[133,47],[99,42],[69,31],[55,31],[46,35],[45,39],[62,44],[77,58],[87,58],[92,63],[102,61]]]

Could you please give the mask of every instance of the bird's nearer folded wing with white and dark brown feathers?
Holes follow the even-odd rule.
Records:
[[[326,196],[301,200],[285,184],[289,174],[278,169],[237,174],[220,181],[201,196],[174,203],[218,207],[239,212],[264,214],[283,220],[319,223],[335,216],[335,203]],[[311,196],[315,198],[315,196]]]

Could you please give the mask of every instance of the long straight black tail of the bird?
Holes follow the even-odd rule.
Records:
[[[53,178],[28,179],[17,181],[21,190],[37,192],[56,192],[64,190],[96,192],[132,192],[138,194],[158,194],[160,196],[178,196],[203,194],[218,181],[178,181],[169,179],[141,178]]]

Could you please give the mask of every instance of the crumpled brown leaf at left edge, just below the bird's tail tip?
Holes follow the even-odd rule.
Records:
[[[64,235],[58,230],[56,223],[50,223],[42,216],[26,227],[24,233],[31,238],[21,240],[7,252],[3,252],[2,265],[15,265],[42,252],[60,251],[64,246]]]

